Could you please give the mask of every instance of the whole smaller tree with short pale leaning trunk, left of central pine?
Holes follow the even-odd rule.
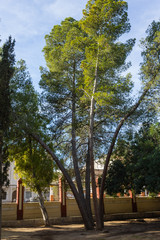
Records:
[[[48,213],[44,205],[42,193],[53,180],[53,161],[37,146],[30,132],[39,132],[48,142],[43,124],[47,120],[39,113],[39,99],[35,92],[26,64],[23,60],[17,63],[14,76],[10,84],[12,125],[9,145],[9,159],[15,161],[15,170],[24,184],[38,193],[42,216],[46,226],[50,225]],[[46,137],[44,137],[46,134]]]

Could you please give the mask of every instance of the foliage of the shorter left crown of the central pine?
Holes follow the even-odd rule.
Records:
[[[82,93],[79,90],[82,81],[80,64],[84,59],[84,37],[78,21],[67,18],[61,25],[54,26],[46,36],[46,46],[43,50],[50,70],[41,69],[40,86],[44,89],[43,113],[50,119],[53,144],[58,151],[60,150],[61,156],[64,155],[64,160],[71,157],[71,125],[74,124],[77,134],[82,135],[83,126],[86,124],[86,105],[80,102]],[[76,104],[74,123],[73,104]],[[79,131],[80,128],[82,131]]]

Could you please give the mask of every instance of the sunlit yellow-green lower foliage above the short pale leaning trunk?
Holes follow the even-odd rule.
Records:
[[[32,144],[32,146],[29,146]],[[18,152],[19,150],[19,152]],[[38,143],[25,142],[25,151],[20,147],[14,154],[15,171],[22,178],[23,183],[34,192],[45,191],[54,177],[52,159]]]

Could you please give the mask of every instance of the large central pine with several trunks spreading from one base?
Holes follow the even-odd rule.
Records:
[[[40,84],[44,89],[44,112],[51,120],[49,131],[53,133],[54,151],[40,136],[32,136],[52,156],[68,181],[86,229],[93,229],[93,218],[83,193],[81,167],[84,169],[87,163],[88,183],[91,167],[96,228],[101,230],[105,179],[118,134],[150,88],[157,84],[158,68],[155,75],[149,78],[145,75],[147,83],[137,102],[132,104],[131,76],[121,74],[128,67],[126,57],[135,40],[119,42],[119,37],[129,29],[125,1],[95,0],[88,1],[79,24],[72,18],[66,19],[46,36],[44,53],[49,70],[43,69]],[[68,165],[65,168],[58,155],[66,160],[66,165],[71,162],[76,185],[67,171]],[[94,160],[101,156],[105,157],[98,200]]]

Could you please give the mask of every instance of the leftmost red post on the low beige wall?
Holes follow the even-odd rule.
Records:
[[[23,220],[23,200],[24,187],[22,186],[22,179],[17,182],[17,220]]]

